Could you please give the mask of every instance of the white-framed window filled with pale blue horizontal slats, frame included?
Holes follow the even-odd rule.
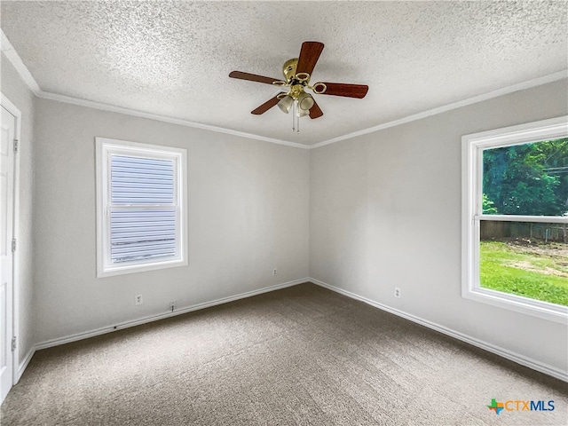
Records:
[[[187,264],[185,149],[96,144],[97,276]]]

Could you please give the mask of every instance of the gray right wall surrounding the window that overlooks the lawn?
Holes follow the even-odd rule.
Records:
[[[566,85],[312,150],[310,276],[566,371],[565,325],[461,297],[461,136],[568,114]]]

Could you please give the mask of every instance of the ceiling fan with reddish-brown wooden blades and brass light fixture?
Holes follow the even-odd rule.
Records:
[[[310,118],[319,118],[323,112],[319,108],[312,95],[306,89],[312,90],[318,95],[334,95],[347,98],[365,98],[369,87],[364,84],[347,83],[315,83],[310,85],[313,68],[323,51],[323,43],[304,42],[300,50],[300,57],[288,59],[282,67],[284,80],[277,78],[264,77],[262,75],[233,71],[229,74],[232,78],[248,80],[250,82],[267,83],[287,88],[288,92],[280,92],[274,98],[267,100],[263,105],[251,111],[251,114],[264,114],[272,106],[278,105],[280,109],[288,114],[290,109],[293,112],[292,130],[300,131],[300,117],[310,115]]]

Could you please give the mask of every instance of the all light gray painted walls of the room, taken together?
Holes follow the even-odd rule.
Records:
[[[567,114],[566,81],[312,151],[36,99],[4,55],[2,92],[23,114],[20,361],[35,343],[166,312],[172,300],[309,274],[567,367],[565,326],[461,298],[461,136]],[[96,136],[188,149],[188,266],[96,278]]]

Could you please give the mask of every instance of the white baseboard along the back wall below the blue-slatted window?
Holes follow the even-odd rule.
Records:
[[[297,284],[301,284],[301,283],[307,282],[309,280],[310,279],[308,279],[308,278],[302,278],[302,279],[299,279],[299,280],[292,280],[292,281],[284,282],[282,284],[277,284],[275,286],[270,286],[270,287],[260,288],[258,290],[248,291],[246,293],[241,293],[241,294],[235,295],[235,296],[222,297],[220,299],[213,300],[211,302],[204,302],[202,304],[193,304],[193,305],[187,306],[185,308],[177,309],[175,312],[160,313],[160,314],[157,314],[157,315],[152,315],[152,316],[141,318],[141,319],[135,319],[133,321],[122,322],[121,324],[117,324],[117,325],[114,325],[114,326],[101,327],[101,328],[97,328],[95,330],[85,331],[83,333],[77,333],[75,335],[67,335],[66,337],[60,337],[58,339],[52,339],[52,340],[48,340],[48,341],[45,341],[45,342],[42,342],[42,343],[37,343],[35,349],[37,351],[39,351],[41,349],[51,348],[53,346],[59,346],[60,344],[71,343],[71,342],[76,342],[78,340],[88,339],[89,337],[94,337],[96,335],[105,335],[106,333],[112,333],[113,331],[121,330],[123,328],[135,327],[135,326],[139,326],[141,324],[146,324],[148,322],[157,321],[159,319],[166,319],[166,318],[170,318],[170,317],[175,317],[177,315],[181,315],[183,313],[193,312],[193,311],[198,311],[200,309],[209,308],[211,306],[216,306],[217,304],[227,304],[227,303],[233,302],[235,300],[244,299],[244,298],[251,297],[251,296],[257,296],[257,295],[261,295],[263,293],[268,293],[269,291],[280,290],[280,288],[287,288],[287,287],[296,286]],[[23,371],[22,371],[22,373],[23,373]]]

